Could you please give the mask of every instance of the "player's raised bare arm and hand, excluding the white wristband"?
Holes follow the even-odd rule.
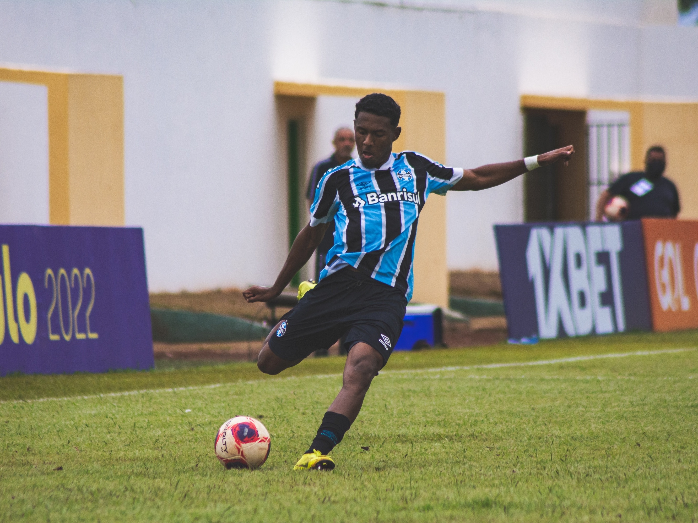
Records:
[[[574,146],[568,145],[561,149],[555,149],[549,153],[538,155],[538,165],[552,165],[562,160],[565,165],[574,154]],[[482,190],[496,187],[510,181],[521,174],[528,172],[523,160],[514,162],[491,163],[476,167],[475,169],[463,169],[463,178],[453,186],[452,190]]]

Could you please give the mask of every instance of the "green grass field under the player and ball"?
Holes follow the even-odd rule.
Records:
[[[252,364],[7,377],[0,520],[695,521],[695,347],[692,331],[394,354],[329,473],[292,466],[341,358],[272,379]],[[637,351],[654,354],[617,356]],[[575,356],[595,357],[526,365]],[[235,414],[272,434],[258,471],[214,456]]]

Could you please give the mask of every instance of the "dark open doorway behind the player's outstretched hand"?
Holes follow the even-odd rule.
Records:
[[[524,175],[524,219],[587,220],[586,112],[524,108],[523,123],[525,156],[566,145],[573,145],[575,151],[567,167],[557,163]]]

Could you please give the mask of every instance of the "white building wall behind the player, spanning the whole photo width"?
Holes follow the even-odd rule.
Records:
[[[444,91],[447,162],[463,167],[521,156],[521,93],[698,97],[695,28],[643,29],[671,23],[664,0],[401,3],[6,0],[0,63],[124,76],[126,222],[145,229],[153,290],[276,277],[274,79]],[[318,100],[309,163],[353,103]],[[521,221],[522,200],[520,180],[449,195],[449,266],[496,268],[491,225]]]

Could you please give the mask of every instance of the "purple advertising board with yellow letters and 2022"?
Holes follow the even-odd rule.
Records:
[[[0,375],[153,365],[142,229],[0,226]]]

